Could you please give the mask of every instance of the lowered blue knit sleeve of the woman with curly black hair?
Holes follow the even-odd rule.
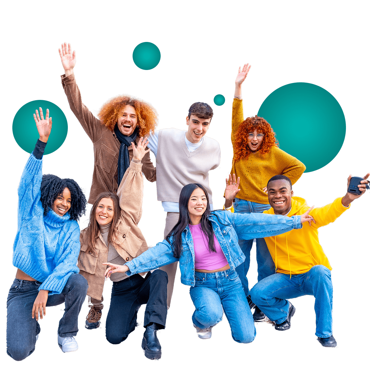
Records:
[[[80,227],[72,221],[73,230],[66,240],[63,249],[55,255],[56,266],[53,272],[40,285],[39,290],[48,290],[50,295],[60,294],[68,278],[78,273],[77,258],[80,253]]]

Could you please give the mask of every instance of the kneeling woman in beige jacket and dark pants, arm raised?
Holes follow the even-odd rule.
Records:
[[[149,152],[146,139],[137,148],[132,143],[133,159],[118,188],[118,196],[104,192],[98,195],[90,212],[89,226],[81,231],[81,252],[78,258],[80,273],[87,279],[91,307],[87,315],[87,329],[100,325],[104,286],[103,262],[124,264],[148,249],[147,241],[138,227],[142,214],[144,179],[141,159]],[[161,358],[157,330],[164,329],[167,315],[167,274],[141,271],[127,276],[117,273],[113,281],[111,304],[105,323],[108,342],[119,344],[127,339],[137,325],[137,312],[147,305],[144,315],[142,349],[150,360]]]

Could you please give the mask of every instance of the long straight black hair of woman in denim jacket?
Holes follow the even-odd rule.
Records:
[[[181,189],[180,199],[179,199],[179,221],[172,228],[172,230],[166,236],[166,240],[171,244],[174,251],[174,257],[180,258],[182,253],[182,237],[181,234],[188,226],[190,221],[188,203],[193,191],[197,188],[201,188],[204,191],[207,199],[206,210],[201,218],[201,231],[205,234],[206,239],[208,240],[208,250],[209,252],[216,252],[215,242],[213,240],[213,228],[212,224],[208,219],[209,214],[211,213],[211,208],[209,207],[209,199],[206,189],[201,184],[188,184]],[[170,238],[173,238],[171,240]]]

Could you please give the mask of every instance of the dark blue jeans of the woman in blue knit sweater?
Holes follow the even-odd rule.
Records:
[[[40,325],[36,317],[32,318],[31,311],[40,285],[38,281],[14,279],[9,289],[6,301],[6,352],[13,360],[24,360],[35,350]],[[72,274],[60,294],[48,296],[46,307],[65,305],[58,326],[61,337],[77,334],[78,314],[86,298],[87,287],[82,275]]]

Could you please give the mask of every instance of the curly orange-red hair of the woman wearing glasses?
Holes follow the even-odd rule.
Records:
[[[250,152],[248,142],[249,132],[254,130],[257,132],[262,132],[264,134],[262,144],[257,149],[257,151],[262,154],[266,154],[271,147],[279,147],[279,143],[276,140],[275,132],[273,131],[269,122],[264,118],[255,116],[247,116],[247,118],[240,124],[238,131],[235,134],[235,141],[233,144],[234,150],[234,161],[239,161],[239,159],[248,159]]]

